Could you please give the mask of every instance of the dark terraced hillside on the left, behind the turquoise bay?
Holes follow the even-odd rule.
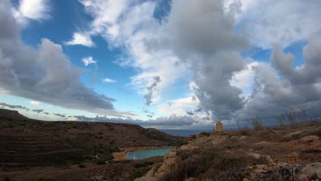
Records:
[[[0,109],[0,164],[53,165],[105,161],[112,152],[167,147],[184,138],[125,123],[37,121]]]

